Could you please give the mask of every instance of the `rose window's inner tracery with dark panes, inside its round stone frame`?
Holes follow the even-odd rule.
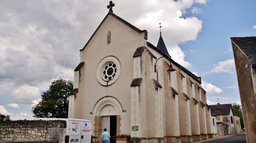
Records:
[[[103,69],[103,79],[109,81],[116,75],[116,64],[113,62],[107,63]]]

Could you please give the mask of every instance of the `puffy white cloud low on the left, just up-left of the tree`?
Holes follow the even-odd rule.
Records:
[[[32,104],[32,100],[40,98],[40,92],[37,87],[22,85],[12,91],[10,97],[15,103]]]

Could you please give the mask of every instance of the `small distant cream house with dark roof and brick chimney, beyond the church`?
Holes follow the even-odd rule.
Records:
[[[217,124],[226,124],[228,127],[228,132],[226,135],[234,135],[235,134],[235,123],[234,123],[234,114],[232,110],[231,104],[220,104],[217,105],[209,105],[211,108],[211,114],[217,116],[216,122]]]

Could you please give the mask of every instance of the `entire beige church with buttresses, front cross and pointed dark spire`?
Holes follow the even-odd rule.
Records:
[[[201,77],[171,59],[161,33],[155,47],[147,30],[115,15],[111,6],[80,50],[68,118],[91,120],[94,143],[104,128],[111,137],[130,134],[131,143],[216,137]]]

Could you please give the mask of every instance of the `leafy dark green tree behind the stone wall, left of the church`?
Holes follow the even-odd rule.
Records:
[[[41,101],[32,107],[33,117],[67,118],[69,93],[73,90],[73,81],[53,80],[49,89],[41,93]]]

